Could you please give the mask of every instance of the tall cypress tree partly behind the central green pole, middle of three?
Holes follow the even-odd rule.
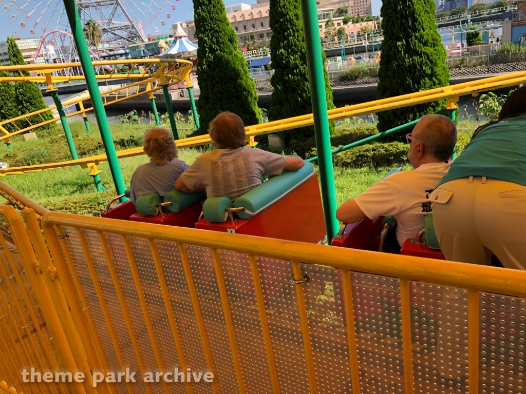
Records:
[[[274,75],[270,80],[274,91],[268,110],[269,120],[280,120],[312,113],[305,36],[299,0],[270,0],[269,25],[272,29],[270,51]],[[325,53],[322,51],[323,65]],[[327,107],[334,108],[329,74],[325,69]],[[335,123],[330,122],[330,132]],[[314,136],[314,128],[302,127],[280,132],[286,142]]]

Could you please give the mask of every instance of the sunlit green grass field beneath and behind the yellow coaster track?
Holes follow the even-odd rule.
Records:
[[[100,140],[100,134],[96,125],[91,125],[93,131],[91,136],[88,136],[86,133],[83,123],[72,123],[70,126],[72,133],[76,137],[76,145],[77,143],[82,145],[82,142],[91,141],[90,143],[93,143],[92,140]],[[461,122],[459,124],[459,141],[460,139],[468,141],[475,127],[476,123]],[[147,125],[112,125],[114,141],[125,141],[122,146],[117,146],[117,149],[132,147],[127,144],[127,141],[131,141],[130,143],[133,144],[133,146],[137,146],[137,144],[140,144],[140,140],[147,129]],[[183,138],[189,134],[192,129],[187,124],[180,124],[178,125],[178,131],[180,137]],[[54,149],[56,150],[56,147],[58,147],[59,153],[53,151],[54,155],[63,154],[70,159],[67,145],[65,141],[61,140],[65,140],[65,138],[63,136],[58,137],[59,134],[62,133],[62,128],[59,127],[52,133],[38,133],[39,136],[37,139],[27,142],[22,136],[15,137],[12,140],[12,146],[14,152],[18,152],[19,157],[23,157],[24,160],[28,158],[27,160],[31,161],[33,157],[38,159],[43,154],[49,155],[51,154],[49,152]],[[93,151],[87,149],[86,152],[86,155],[92,155],[103,153],[104,151],[98,147],[98,149]],[[181,149],[179,150],[179,159],[191,164],[199,154],[201,154],[199,149]],[[6,156],[12,158],[6,146],[0,144],[0,161],[4,161]],[[52,158],[53,157],[49,157],[48,159],[51,160]],[[131,174],[133,174],[138,165],[146,163],[147,161],[148,158],[146,155],[120,160],[124,180],[127,185],[129,185]],[[50,210],[97,215],[105,208],[107,201],[116,195],[108,163],[105,162],[98,167],[103,171],[100,177],[103,185],[107,189],[105,193],[95,193],[93,180],[88,175],[89,170],[77,169],[75,167],[9,175],[0,180]],[[366,190],[371,184],[380,180],[383,175],[393,167],[395,167],[395,165],[376,168],[371,166],[362,168],[335,167],[338,205]],[[403,165],[403,167],[404,169],[410,169],[408,164]]]

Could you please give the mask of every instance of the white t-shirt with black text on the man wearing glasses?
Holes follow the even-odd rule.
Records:
[[[411,171],[395,172],[373,184],[355,201],[371,220],[395,216],[397,240],[403,245],[424,228],[424,216],[431,213],[429,194],[448,173],[450,165],[427,163]]]

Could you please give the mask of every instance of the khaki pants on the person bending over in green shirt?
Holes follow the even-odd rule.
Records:
[[[431,195],[433,221],[447,260],[526,269],[526,187],[485,177],[440,185]]]

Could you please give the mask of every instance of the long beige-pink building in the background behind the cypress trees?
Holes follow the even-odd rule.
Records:
[[[371,15],[371,0],[342,0],[334,1],[319,0],[316,2],[318,6],[318,19],[320,20],[320,35],[325,36],[325,22],[329,18],[333,18],[338,7],[346,7],[349,9],[351,15]],[[257,4],[248,5],[244,3],[229,5],[227,8],[227,18],[230,25],[236,31],[236,35],[241,41],[250,39],[267,41],[272,35],[272,30],[269,26],[269,12],[270,3],[268,0],[257,0]],[[338,28],[343,26],[343,16],[333,18],[335,26]],[[376,22],[362,22],[358,24],[345,25],[347,34],[357,34],[360,28],[364,25],[369,25],[372,29],[376,29]],[[175,31],[177,24],[173,25]],[[195,32],[195,25],[193,20],[188,20],[181,23],[181,26],[188,34],[188,39],[191,42],[197,43],[197,35]],[[252,38],[255,37],[255,38]]]

